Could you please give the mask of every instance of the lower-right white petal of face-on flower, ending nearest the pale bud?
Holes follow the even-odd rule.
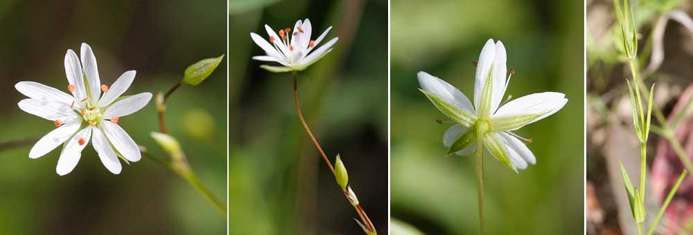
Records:
[[[103,133],[106,134],[108,140],[113,144],[113,147],[121,153],[123,158],[131,162],[137,162],[142,158],[137,144],[121,126],[105,120],[101,121],[100,125],[101,129],[103,129]]]

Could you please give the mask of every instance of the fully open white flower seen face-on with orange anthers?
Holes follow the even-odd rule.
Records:
[[[110,88],[102,85],[96,57],[89,45],[82,44],[81,64],[75,52],[67,50],[65,73],[69,82],[67,90],[71,95],[37,82],[18,82],[15,85],[17,91],[30,97],[17,104],[19,109],[51,120],[58,126],[34,144],[29,158],[44,156],[67,141],[55,169],[58,175],[63,176],[75,168],[82,150],[91,139],[101,162],[112,173],[121,172],[119,156],[131,162],[140,160],[137,144],[117,124],[121,117],[142,109],[152,97],[151,93],[120,97],[132,84],[135,71],[123,73]]]

